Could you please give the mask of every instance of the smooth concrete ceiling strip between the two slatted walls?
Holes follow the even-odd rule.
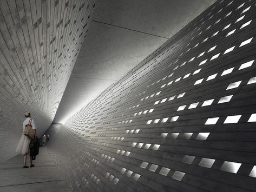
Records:
[[[215,0],[99,1],[54,123],[63,123]]]

